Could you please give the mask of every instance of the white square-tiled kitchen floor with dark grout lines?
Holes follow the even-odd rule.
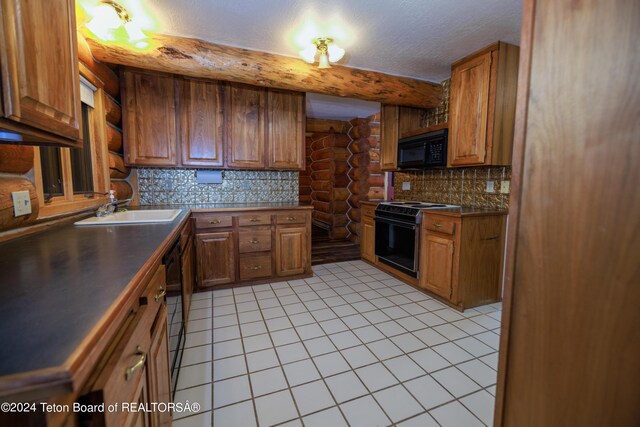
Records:
[[[464,313],[362,261],[196,294],[176,427],[492,425],[501,305]]]

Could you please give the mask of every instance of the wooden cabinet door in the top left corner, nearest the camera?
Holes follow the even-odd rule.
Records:
[[[5,117],[79,140],[75,1],[1,0],[0,10]]]

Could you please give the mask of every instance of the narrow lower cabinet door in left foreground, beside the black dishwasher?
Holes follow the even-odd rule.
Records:
[[[150,402],[171,402],[171,371],[169,367],[169,346],[167,338],[167,309],[164,304],[158,311],[149,348],[147,383]],[[171,413],[150,412],[151,427],[168,426]]]

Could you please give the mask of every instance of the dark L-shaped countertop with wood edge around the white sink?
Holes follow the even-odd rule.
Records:
[[[156,205],[164,224],[55,227],[0,243],[0,383],[62,367],[190,212],[312,209],[291,203]]]

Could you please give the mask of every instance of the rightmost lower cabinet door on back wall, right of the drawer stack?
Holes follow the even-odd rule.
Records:
[[[307,227],[276,229],[276,274],[292,276],[310,270]]]

